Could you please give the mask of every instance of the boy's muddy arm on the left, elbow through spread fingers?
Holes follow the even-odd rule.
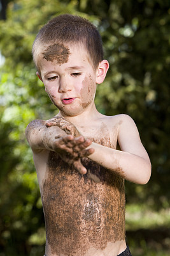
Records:
[[[57,152],[66,163],[73,164],[75,170],[81,174],[87,172],[80,158],[94,152],[93,148],[87,148],[92,142],[85,140],[73,124],[67,122],[66,125],[64,118],[57,118],[57,125],[52,127],[47,127],[44,120],[34,120],[27,125],[25,136],[34,154],[42,150]]]

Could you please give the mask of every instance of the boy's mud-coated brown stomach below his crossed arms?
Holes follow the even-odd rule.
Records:
[[[48,157],[42,201],[50,255],[83,256],[125,239],[124,179],[89,159],[83,164],[96,179],[54,152]]]

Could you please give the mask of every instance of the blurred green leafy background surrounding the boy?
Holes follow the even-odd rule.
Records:
[[[41,26],[61,13],[81,15],[99,29],[110,70],[97,87],[97,109],[132,116],[152,161],[148,184],[125,182],[132,255],[170,255],[170,1],[0,3],[0,256],[45,250],[38,180],[24,132],[31,120],[57,114],[36,77],[31,48]]]

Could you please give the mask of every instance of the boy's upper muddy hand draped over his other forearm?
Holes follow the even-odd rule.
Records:
[[[78,137],[81,135],[78,129],[76,129],[75,125],[66,120],[66,118],[60,116],[54,116],[53,118],[47,120],[45,125],[46,127],[56,125],[60,127],[60,129],[64,130],[67,134],[71,134],[74,137]]]

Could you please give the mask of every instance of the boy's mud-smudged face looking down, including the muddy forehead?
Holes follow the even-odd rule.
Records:
[[[80,115],[94,104],[97,70],[83,46],[50,45],[38,63],[45,90],[62,115]]]

